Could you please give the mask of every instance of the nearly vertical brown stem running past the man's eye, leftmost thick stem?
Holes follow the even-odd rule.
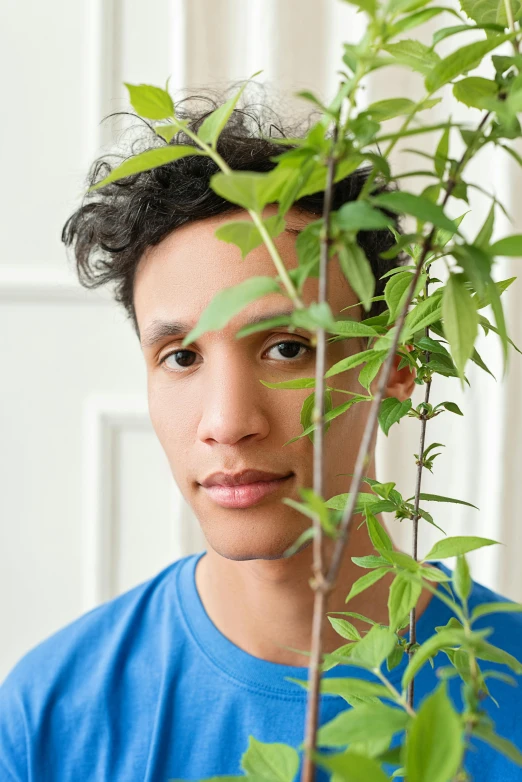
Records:
[[[336,143],[338,138],[338,125],[333,132],[333,144],[328,157],[326,174],[326,188],[323,202],[323,233],[321,236],[321,248],[319,258],[319,303],[328,301],[328,259],[330,252],[330,212],[332,209],[333,184],[335,168],[337,164]],[[317,329],[317,356],[315,364],[315,396],[313,420],[317,424],[314,429],[314,492],[323,496],[324,484],[324,373],[326,366],[326,331]],[[315,751],[317,743],[317,723],[319,717],[319,692],[321,686],[321,652],[323,623],[326,615],[329,589],[325,589],[323,572],[323,534],[318,515],[314,515],[313,526],[315,535],[313,538],[313,574],[312,586],[314,589],[314,613],[312,620],[312,639],[310,656],[309,688],[306,709],[305,724],[305,756],[303,759],[302,782],[313,782],[315,776],[315,762],[311,752]]]

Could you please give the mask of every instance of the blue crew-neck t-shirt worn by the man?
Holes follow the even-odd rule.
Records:
[[[254,657],[216,628],[196,589],[195,567],[203,554],[174,562],[84,614],[18,662],[0,687],[1,782],[201,780],[242,774],[249,736],[302,744],[306,691],[285,677],[306,680],[307,668]],[[451,574],[440,561],[434,564]],[[471,608],[495,600],[505,598],[473,583]],[[417,621],[417,641],[451,615],[433,596]],[[491,614],[474,627],[493,627],[488,641],[520,656],[521,614]],[[443,652],[434,662],[435,668],[449,664]],[[398,689],[406,664],[407,655],[390,672],[383,663]],[[480,664],[483,671],[512,673],[504,665]],[[371,672],[348,665],[324,675],[376,681]],[[415,679],[415,707],[438,683],[425,664]],[[493,678],[487,683],[500,707],[491,698],[483,701],[496,732],[522,750],[518,687]],[[449,680],[459,711],[460,687],[459,677]],[[322,695],[320,724],[347,708],[340,697]],[[392,746],[400,738],[396,734]],[[475,782],[522,780],[513,761],[475,738],[472,744],[465,767]],[[301,764],[302,752],[300,758]],[[386,768],[390,774],[394,769]],[[300,771],[301,765],[296,780]],[[317,775],[328,778],[323,771]]]

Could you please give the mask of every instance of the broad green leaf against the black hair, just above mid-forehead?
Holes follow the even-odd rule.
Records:
[[[210,179],[215,193],[238,204],[244,209],[261,212],[268,203],[273,203],[281,191],[286,174],[275,168],[268,174],[257,171],[233,171],[231,174],[218,172]]]

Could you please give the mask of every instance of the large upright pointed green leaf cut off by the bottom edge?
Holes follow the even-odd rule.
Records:
[[[405,745],[408,782],[447,782],[460,767],[465,748],[464,729],[446,687],[446,682],[441,682],[423,700],[408,728]]]

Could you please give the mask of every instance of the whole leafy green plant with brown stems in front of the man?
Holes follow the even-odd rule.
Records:
[[[314,334],[313,342],[317,347],[315,377],[265,383],[278,389],[314,389],[301,411],[303,431],[289,441],[304,436],[313,438],[313,488],[300,489],[301,503],[290,498],[285,500],[312,520],[312,527],[285,552],[286,556],[291,556],[312,539],[314,613],[306,683],[308,699],[303,782],[313,782],[317,765],[333,772],[336,782],[353,778],[381,782],[386,779],[382,766],[387,763],[399,766],[393,776],[405,776],[408,782],[451,782],[465,778],[465,749],[471,736],[487,741],[522,765],[522,755],[507,739],[495,734],[492,722],[481,709],[481,701],[492,697],[486,679],[494,672],[482,671],[479,660],[502,662],[517,673],[522,672],[522,664],[486,640],[491,628],[473,629],[474,621],[486,615],[488,607],[478,606],[471,614],[468,608],[472,581],[465,555],[497,541],[474,536],[445,537],[423,560],[418,559],[419,520],[440,529],[435,522],[435,514],[421,507],[421,503],[471,505],[464,500],[422,492],[423,470],[433,470],[434,460],[440,455],[436,449],[443,447],[440,443],[426,446],[428,420],[442,413],[462,415],[454,402],[445,401],[437,405],[430,402],[433,379],[436,375],[455,377],[459,378],[462,386],[469,384],[465,375],[469,361],[491,374],[475,348],[479,327],[485,334],[489,331],[498,334],[504,370],[508,347],[513,346],[500,301],[513,280],[494,281],[492,269],[498,255],[522,254],[522,236],[508,236],[491,242],[495,208],[503,208],[496,199],[473,242],[466,241],[460,229],[465,215],[451,219],[446,208],[451,198],[468,203],[468,188],[472,185],[465,181],[464,173],[468,163],[488,144],[506,150],[518,165],[522,165],[522,160],[509,144],[510,140],[522,136],[517,117],[522,110],[522,61],[517,27],[522,18],[522,7],[518,0],[513,3],[504,0],[503,4],[497,0],[483,0],[481,3],[462,0],[463,12],[474,22],[470,24],[454,10],[434,6],[430,0],[347,1],[367,15],[367,30],[358,44],[345,45],[343,64],[346,71],[341,74],[342,83],[329,106],[324,106],[311,93],[302,94],[319,107],[322,119],[304,138],[280,141],[281,146],[288,149],[275,159],[275,167],[268,174],[234,171],[218,152],[220,134],[242,91],[206,117],[196,132],[177,116],[167,90],[150,85],[127,85],[132,105],[141,116],[155,122],[166,122],[155,126],[165,145],[126,160],[91,189],[104,187],[119,178],[158,165],[173,163],[185,156],[207,156],[218,168],[210,181],[212,189],[244,209],[251,218],[248,225],[241,221],[221,226],[217,236],[239,247],[243,258],[252,249],[264,244],[278,276],[276,279],[252,278],[236,288],[220,291],[201,315],[196,328],[185,338],[183,346],[207,331],[222,328],[235,313],[260,296],[281,292],[280,284],[294,305],[288,324],[306,324]],[[456,15],[460,24],[439,28],[431,47],[419,40],[400,37],[443,12]],[[465,44],[444,58],[439,56],[437,46],[441,41],[465,35],[471,30],[483,31],[485,38]],[[468,75],[505,43],[512,45],[514,54],[510,57],[492,55],[493,79]],[[426,94],[419,101],[396,97],[377,101],[359,110],[358,92],[366,77],[389,65],[407,67],[421,74]],[[414,122],[418,122],[420,112],[439,102],[439,98],[433,96],[450,86],[456,100],[483,112],[477,127],[469,129],[450,120],[412,127]],[[403,118],[398,131],[382,131],[383,123],[398,117]],[[333,130],[329,136],[328,129],[331,127]],[[430,160],[433,171],[407,172],[408,176],[429,173],[435,180],[434,184],[420,195],[390,189],[390,183],[406,178],[400,172],[393,175],[390,170],[389,157],[397,143],[404,138],[415,140],[420,134],[438,131],[442,134],[434,154],[414,150]],[[451,156],[451,134],[456,132],[465,146],[458,158]],[[175,136],[176,133],[178,136]],[[188,139],[192,143],[182,143],[180,139]],[[388,143],[385,152],[381,153],[380,144],[384,141]],[[370,162],[371,171],[356,200],[333,209],[336,182],[356,172],[365,161]],[[299,268],[297,273],[296,270],[289,272],[274,239],[284,229],[284,216],[288,209],[305,195],[319,191],[324,192],[321,220],[310,223],[303,231],[296,243]],[[264,208],[269,204],[278,204],[277,214],[264,218]],[[400,233],[393,219],[396,215],[414,218],[415,230],[409,234]],[[396,261],[395,268],[381,277],[382,281],[386,280],[381,286],[384,293],[375,295],[377,281],[358,238],[363,231],[383,230],[394,236],[395,244],[382,253],[381,258],[400,260]],[[335,253],[339,256],[347,281],[360,300],[359,305],[368,313],[372,304],[384,302],[380,314],[363,317],[360,321],[335,319],[328,305],[328,261]],[[408,266],[401,262],[404,254],[412,261]],[[447,273],[445,283],[432,274],[434,264],[439,261]],[[315,275],[318,277],[318,301],[306,307],[301,298],[302,286],[315,271],[318,272]],[[494,324],[480,314],[486,306],[491,306]],[[250,331],[243,329],[237,336],[245,333]],[[327,334],[332,335],[330,341],[366,340],[367,347],[327,369]],[[416,373],[416,382],[425,385],[424,399],[415,408],[411,399],[385,398],[396,356],[401,358],[399,367],[408,366]],[[351,398],[332,408],[330,392],[343,389],[336,389],[325,381],[355,369],[359,371],[361,387],[368,393],[347,392]],[[373,386],[375,390],[372,392]],[[349,414],[359,402],[370,402],[370,406],[349,491],[325,499],[323,451],[326,432],[334,419]],[[420,422],[419,453],[415,454],[415,491],[408,499],[402,497],[394,483],[382,483],[365,475],[378,425],[387,435],[391,426],[405,416],[415,417]],[[363,482],[369,487],[368,491],[361,491]],[[393,549],[386,530],[378,520],[378,515],[385,512],[393,513],[399,521],[412,521],[411,555]],[[323,654],[322,636],[329,596],[358,515],[363,516],[362,523],[366,525],[375,554],[352,558],[366,572],[352,584],[346,602],[386,574],[393,573],[388,600],[389,625],[378,625],[354,612],[343,612],[371,625],[361,635],[347,619],[331,619],[328,616],[332,626],[348,643],[333,653]],[[329,563],[324,555],[325,535],[335,541]],[[430,565],[430,561],[452,556],[457,557],[457,565],[451,578]],[[436,628],[435,635],[420,645],[416,638],[416,606],[423,589],[441,600],[452,616],[446,626]],[[522,606],[511,602],[497,603],[490,612],[495,610],[519,611]],[[406,642],[400,631],[408,626],[409,641]],[[440,686],[416,710],[415,676],[428,661],[433,666],[433,658],[439,652],[447,656],[450,666],[437,671],[442,679]],[[402,691],[399,692],[381,667],[386,661],[388,670],[391,670],[405,654],[408,661],[401,680]],[[321,678],[324,671],[341,662],[372,672],[378,681]],[[446,680],[453,676],[460,676],[463,682],[466,706],[462,714],[455,711],[446,689]],[[296,684],[303,686],[302,682]],[[321,693],[341,695],[351,709],[342,712],[330,723],[319,726]],[[392,706],[383,703],[385,700],[391,700]],[[369,731],[371,741],[365,741]],[[400,748],[390,749],[393,736],[400,731],[405,731],[403,743]],[[345,745],[348,745],[348,751],[335,756],[317,751],[318,746],[339,748]],[[282,744],[263,745],[252,736],[242,758],[242,768],[252,781],[269,778],[276,768],[279,779],[293,782],[297,765],[294,748]]]

